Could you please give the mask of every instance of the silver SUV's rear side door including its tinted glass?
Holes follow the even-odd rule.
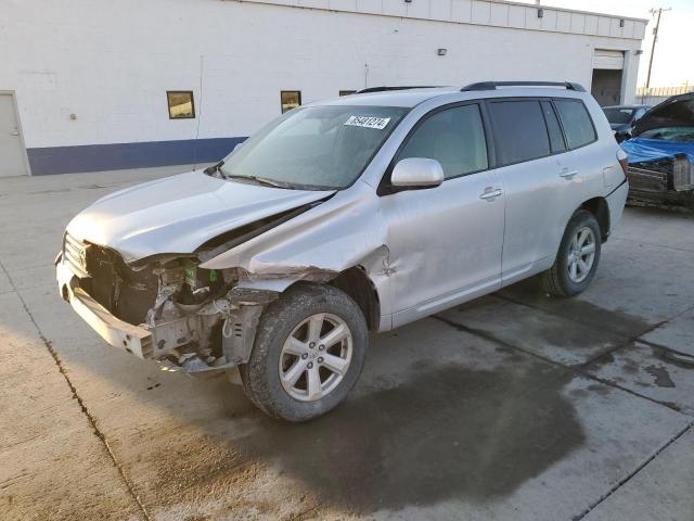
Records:
[[[553,263],[565,214],[576,207],[580,171],[574,167],[549,99],[489,100],[497,175],[506,196],[503,282]]]

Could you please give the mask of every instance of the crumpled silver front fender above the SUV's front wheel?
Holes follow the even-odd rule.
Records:
[[[357,196],[355,193],[357,192]],[[390,313],[387,228],[377,198],[358,181],[352,193],[338,192],[262,234],[201,264],[205,269],[241,268],[239,285],[282,292],[298,281],[329,282],[350,268],[361,269],[377,293],[382,315]],[[384,328],[383,325],[378,329]]]

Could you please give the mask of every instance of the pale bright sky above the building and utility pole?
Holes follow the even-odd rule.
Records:
[[[532,0],[520,0],[535,3]],[[576,9],[595,13],[648,18],[646,37],[641,43],[639,87],[645,85],[655,17],[650,9],[672,8],[663,13],[658,41],[651,73],[651,87],[674,87],[689,81],[694,85],[694,0],[541,0],[547,7]]]

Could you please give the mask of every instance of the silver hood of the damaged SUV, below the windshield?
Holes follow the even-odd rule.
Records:
[[[67,225],[74,238],[119,252],[128,263],[201,244],[334,191],[288,190],[191,171],[106,195]]]

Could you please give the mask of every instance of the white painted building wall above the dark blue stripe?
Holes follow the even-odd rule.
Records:
[[[280,90],[300,90],[307,103],[378,85],[589,88],[595,48],[638,60],[644,21],[620,27],[614,16],[543,10],[538,18],[535,7],[477,0],[4,0],[0,90],[16,91],[26,145],[38,149],[248,136],[280,114]],[[630,101],[638,66],[626,69]],[[166,90],[193,90],[197,118],[170,120]]]

